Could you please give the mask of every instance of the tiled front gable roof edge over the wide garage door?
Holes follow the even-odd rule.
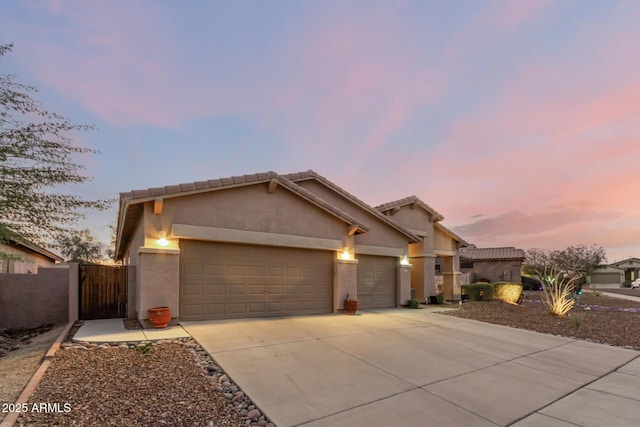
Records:
[[[307,200],[329,214],[355,227],[357,229],[356,232],[365,233],[369,231],[369,227],[355,217],[338,209],[299,185],[294,184],[286,177],[270,171],[252,175],[232,176],[229,178],[197,181],[187,184],[169,185],[165,187],[155,187],[120,193],[116,258],[120,259],[124,256],[133,231],[135,230],[135,226],[143,213],[145,202],[150,202],[157,198],[166,199],[184,197],[194,194],[271,182],[281,185],[302,199]]]

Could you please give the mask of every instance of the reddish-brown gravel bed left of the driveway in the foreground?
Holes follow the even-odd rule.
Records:
[[[191,339],[64,343],[27,408],[16,425],[270,425]]]

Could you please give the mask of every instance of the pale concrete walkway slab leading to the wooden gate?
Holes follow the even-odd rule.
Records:
[[[131,342],[155,341],[163,339],[187,338],[190,335],[182,326],[169,326],[164,329],[136,329],[124,328],[122,319],[85,320],[73,337],[75,342]]]

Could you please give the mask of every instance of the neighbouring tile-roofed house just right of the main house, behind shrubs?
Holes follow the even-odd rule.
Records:
[[[487,279],[490,282],[520,283],[520,271],[525,258],[522,249],[514,247],[460,249],[460,271],[470,273],[470,282]]]

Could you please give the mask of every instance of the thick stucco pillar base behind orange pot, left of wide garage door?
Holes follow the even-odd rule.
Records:
[[[137,272],[140,283],[136,284],[138,319],[141,321],[148,319],[147,310],[164,306],[169,307],[172,318],[178,317],[180,315],[178,311],[180,250],[142,247],[138,253],[140,254],[140,266]]]

